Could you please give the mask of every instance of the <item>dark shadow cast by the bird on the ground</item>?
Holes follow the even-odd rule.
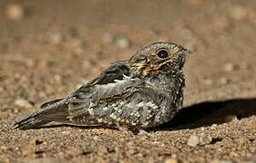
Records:
[[[251,117],[256,115],[256,98],[253,99],[233,99],[229,101],[204,101],[183,108],[169,122],[160,125],[154,129],[148,130],[178,130],[178,129],[196,129],[200,127],[211,126],[212,124],[222,124],[237,118]],[[71,127],[79,129],[101,129],[100,126],[77,126],[70,124],[54,124],[39,127],[59,128]]]

